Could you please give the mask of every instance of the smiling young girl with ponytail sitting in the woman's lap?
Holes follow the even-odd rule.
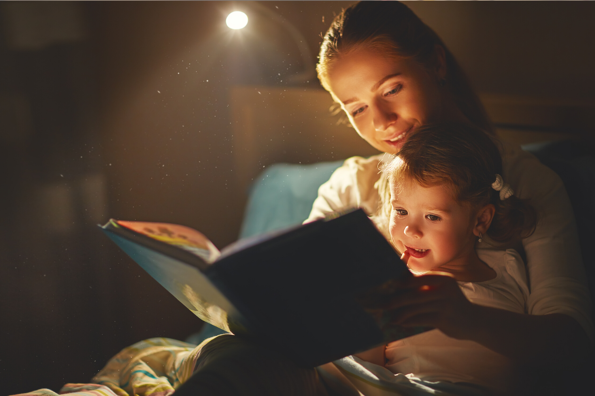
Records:
[[[458,300],[450,306],[437,299],[439,294],[433,296],[431,287],[425,288],[429,303],[424,301],[422,309],[402,310],[406,301],[395,300],[397,323],[434,322],[439,329],[390,342],[384,366],[424,381],[505,391],[512,378],[511,360],[480,339],[457,338],[462,327],[477,328],[473,321],[481,317],[483,307],[527,313],[524,263],[515,250],[497,246],[530,235],[536,227],[535,210],[502,180],[502,159],[492,138],[468,124],[419,127],[384,173],[390,202],[384,202],[378,217],[389,219],[394,247],[414,274],[440,271],[462,291],[449,291]],[[492,249],[476,250],[482,244]],[[452,287],[454,282],[434,287],[445,285]],[[452,306],[459,309],[449,310]],[[380,358],[361,357],[375,362]]]

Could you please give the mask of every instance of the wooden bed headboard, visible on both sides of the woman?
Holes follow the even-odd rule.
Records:
[[[303,87],[231,89],[236,183],[246,191],[265,166],[310,164],[378,153],[330,111],[331,96]],[[503,140],[525,144],[593,136],[595,103],[480,95]]]

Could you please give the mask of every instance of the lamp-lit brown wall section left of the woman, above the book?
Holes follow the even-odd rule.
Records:
[[[313,68],[317,34],[327,24],[322,15],[328,22],[330,10],[339,12],[348,2],[279,4],[284,12],[264,3],[308,37],[313,62],[308,66]],[[239,74],[234,62],[264,68],[278,63],[279,74],[287,70],[283,62],[299,70],[295,44],[267,20],[268,29],[250,33],[260,34],[256,43],[273,52],[288,48],[286,58],[233,58],[230,48],[237,51],[234,46],[242,37],[230,36],[223,26],[233,7],[228,2],[111,2],[96,7],[112,215],[181,222],[225,246],[237,237],[243,210],[231,185],[228,89],[234,83],[284,85],[278,81],[283,76],[268,81],[268,76]]]

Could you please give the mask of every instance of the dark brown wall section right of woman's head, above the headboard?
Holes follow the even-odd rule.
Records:
[[[592,2],[406,2],[480,92],[595,100]]]

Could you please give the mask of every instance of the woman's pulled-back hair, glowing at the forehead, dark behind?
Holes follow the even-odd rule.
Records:
[[[427,70],[437,66],[436,46],[446,54],[446,89],[472,124],[493,134],[486,110],[471,88],[468,78],[440,37],[413,11],[397,1],[362,1],[337,15],[320,47],[316,70],[322,86],[328,71],[341,55],[360,48],[387,56],[413,58]]]

